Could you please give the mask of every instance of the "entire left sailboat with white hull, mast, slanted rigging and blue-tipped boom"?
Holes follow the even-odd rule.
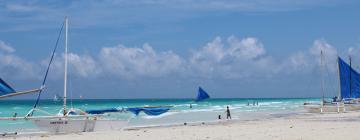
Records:
[[[35,90],[29,90],[25,92],[15,92],[9,85],[7,85],[3,80],[0,80],[0,98],[2,97],[11,97],[31,92],[38,92],[38,98],[34,107],[28,112],[25,117],[2,117],[0,120],[16,120],[16,119],[25,119],[32,121],[36,126],[41,130],[51,132],[51,133],[71,133],[71,132],[89,132],[95,130],[104,130],[104,129],[121,129],[127,125],[127,120],[111,120],[106,119],[105,117],[109,114],[90,114],[81,109],[73,108],[72,106],[68,108],[67,106],[67,69],[68,69],[68,18],[65,17],[65,53],[64,53],[64,95],[63,95],[63,107],[60,109],[58,114],[50,114],[46,111],[38,109],[38,103],[40,100],[41,92],[43,87],[45,87],[46,77],[49,72],[51,62],[54,58],[54,54],[57,48],[57,44],[61,35],[60,34],[55,45],[55,48],[52,52],[50,63],[47,67],[45,77],[43,79],[43,84],[41,88]],[[4,94],[5,93],[5,94]],[[44,116],[36,116],[35,112],[46,114]]]

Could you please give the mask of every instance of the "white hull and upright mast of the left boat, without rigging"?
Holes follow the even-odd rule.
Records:
[[[65,53],[64,53],[64,95],[63,108],[57,115],[32,117],[30,120],[41,130],[51,133],[91,132],[94,130],[121,129],[127,120],[106,119],[107,115],[92,115],[71,107],[67,109],[67,68],[68,68],[68,18],[65,17]],[[34,110],[29,112],[32,114]]]

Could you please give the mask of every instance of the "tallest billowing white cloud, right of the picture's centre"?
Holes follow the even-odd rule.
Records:
[[[256,38],[216,37],[189,58],[189,73],[207,78],[267,77],[278,70]]]

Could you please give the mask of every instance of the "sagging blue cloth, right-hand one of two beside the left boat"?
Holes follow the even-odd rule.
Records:
[[[160,108],[146,108],[146,107],[133,107],[127,108],[127,111],[134,113],[136,116],[140,114],[140,112],[144,112],[146,115],[157,116],[163,113],[166,113],[170,110],[170,108],[160,107]]]

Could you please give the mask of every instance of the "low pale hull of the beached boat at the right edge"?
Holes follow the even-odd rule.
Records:
[[[345,105],[304,105],[306,111],[310,113],[319,113],[319,112],[346,112],[346,111],[358,111],[360,110],[360,104],[345,104]]]

